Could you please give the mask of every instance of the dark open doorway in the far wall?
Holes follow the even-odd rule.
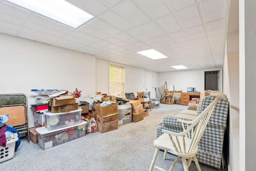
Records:
[[[204,90],[221,91],[220,70],[204,72]]]

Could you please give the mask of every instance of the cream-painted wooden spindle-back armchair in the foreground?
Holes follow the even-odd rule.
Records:
[[[165,171],[164,169],[155,166],[156,158],[160,149],[164,150],[164,159],[166,158],[167,152],[178,156],[169,171],[174,168],[180,157],[182,159],[184,171],[188,171],[188,167],[192,160],[195,162],[198,171],[201,171],[198,160],[196,159],[198,142],[200,141],[210,117],[212,116],[212,112],[219,100],[220,98],[217,97],[212,101],[212,103],[210,103],[210,105],[208,105],[208,107],[206,107],[206,109],[204,109],[204,111],[202,111],[193,121],[177,119],[182,124],[183,132],[175,133],[172,131],[162,130],[164,134],[160,135],[160,137],[154,141],[156,151],[149,171],[152,171],[153,168]]]

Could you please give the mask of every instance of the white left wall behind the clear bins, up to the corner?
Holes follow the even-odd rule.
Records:
[[[29,127],[34,127],[31,89],[95,92],[95,57],[47,44],[0,34],[0,94],[24,93],[28,97]]]

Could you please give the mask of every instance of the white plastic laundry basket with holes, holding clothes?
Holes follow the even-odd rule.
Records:
[[[18,137],[6,142],[6,147],[0,146],[0,163],[12,159],[15,151],[15,143],[18,141]]]

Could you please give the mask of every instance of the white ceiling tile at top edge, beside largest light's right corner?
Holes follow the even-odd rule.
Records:
[[[98,16],[99,14],[108,9],[106,8],[106,6],[102,5],[96,0],[88,0],[84,2],[80,7],[85,9],[87,12],[90,12],[94,16]]]

